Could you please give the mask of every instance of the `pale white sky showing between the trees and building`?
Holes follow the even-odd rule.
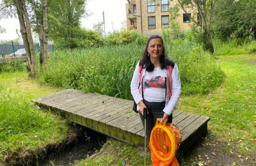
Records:
[[[2,0],[0,0],[1,2]],[[127,0],[88,0],[86,10],[93,13],[88,18],[81,19],[81,27],[93,29],[93,24],[103,22],[103,11],[105,19],[105,32],[120,30],[122,21],[126,21],[125,4]],[[111,23],[113,22],[113,24]],[[16,29],[20,30],[19,20],[15,18],[0,20],[2,28],[6,33],[0,34],[0,40],[13,40],[18,38]],[[104,29],[104,26],[103,26]],[[20,34],[20,32],[19,32]]]

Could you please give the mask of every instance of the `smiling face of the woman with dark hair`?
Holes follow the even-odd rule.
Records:
[[[161,39],[154,38],[149,41],[147,52],[151,59],[160,59],[163,53],[163,43]]]

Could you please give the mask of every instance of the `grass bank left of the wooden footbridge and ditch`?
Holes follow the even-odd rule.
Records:
[[[62,90],[40,85],[26,72],[0,74],[0,164],[21,164],[27,155],[41,157],[47,146],[72,139],[67,121],[42,112],[31,99]]]

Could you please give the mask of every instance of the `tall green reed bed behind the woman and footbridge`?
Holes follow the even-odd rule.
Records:
[[[184,94],[207,93],[223,81],[223,72],[200,46],[182,40],[165,46],[179,67]],[[56,51],[40,77],[65,88],[131,100],[130,82],[144,47],[132,43]]]

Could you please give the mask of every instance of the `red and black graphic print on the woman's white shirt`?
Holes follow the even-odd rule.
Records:
[[[163,76],[152,76],[144,81],[145,88],[166,88]]]

